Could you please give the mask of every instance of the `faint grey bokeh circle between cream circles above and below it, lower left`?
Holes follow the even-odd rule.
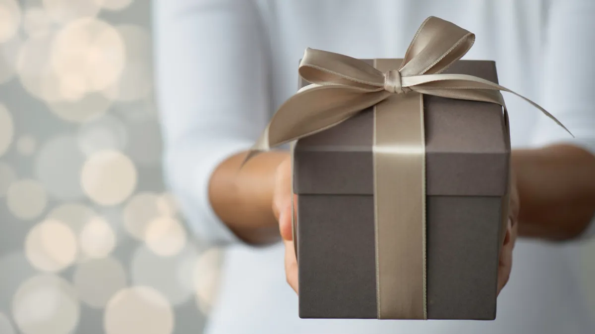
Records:
[[[193,294],[192,263],[196,263],[196,259],[198,253],[190,245],[170,257],[159,256],[141,246],[132,257],[132,283],[151,286],[174,305],[184,303]]]

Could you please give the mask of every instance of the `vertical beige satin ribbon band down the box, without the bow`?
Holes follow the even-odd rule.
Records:
[[[377,59],[380,71],[396,59]],[[427,319],[425,135],[422,94],[374,107],[374,209],[378,319]]]

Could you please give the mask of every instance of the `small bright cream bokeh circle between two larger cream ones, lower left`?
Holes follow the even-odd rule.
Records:
[[[80,251],[84,258],[101,259],[115,248],[114,230],[101,217],[94,217],[83,226],[79,235]]]

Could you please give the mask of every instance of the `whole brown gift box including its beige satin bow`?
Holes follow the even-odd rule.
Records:
[[[302,88],[246,158],[292,143],[300,317],[496,317],[511,155],[500,91],[563,125],[497,84],[494,62],[459,60],[474,38],[430,17],[403,59],[306,49]]]

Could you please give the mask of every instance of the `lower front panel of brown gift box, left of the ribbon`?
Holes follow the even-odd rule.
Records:
[[[299,316],[375,319],[372,196],[300,195]]]

